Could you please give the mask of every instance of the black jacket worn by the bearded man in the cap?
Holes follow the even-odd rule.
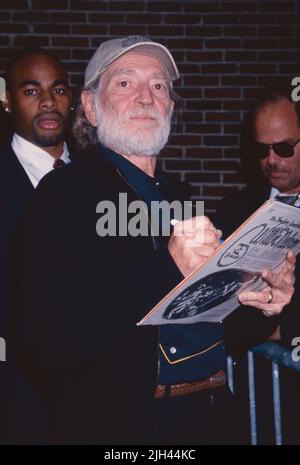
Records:
[[[120,192],[138,198],[100,153],[84,154],[39,184],[20,231],[18,340],[23,369],[38,374],[53,442],[155,440],[159,335],[136,323],[183,276],[167,241],[156,248],[151,236],[96,234],[98,202],[118,205]],[[197,333],[196,352],[208,336]]]

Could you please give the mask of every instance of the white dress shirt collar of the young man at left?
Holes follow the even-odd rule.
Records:
[[[28,142],[16,133],[13,135],[11,146],[33,187],[36,187],[40,180],[53,170],[55,159],[41,147]],[[64,143],[63,152],[59,158],[65,163],[70,163],[66,143]]]

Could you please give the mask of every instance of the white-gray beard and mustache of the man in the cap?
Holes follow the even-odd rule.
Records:
[[[97,118],[97,135],[99,141],[106,147],[125,156],[156,156],[168,142],[171,129],[171,111],[166,117],[161,117],[156,112],[150,114],[159,119],[159,126],[149,129],[145,135],[145,130],[128,131],[124,128],[120,118],[114,118],[107,111],[101,108],[99,100],[95,102]],[[149,114],[149,111],[134,112],[139,114]],[[124,121],[128,113],[124,115]]]

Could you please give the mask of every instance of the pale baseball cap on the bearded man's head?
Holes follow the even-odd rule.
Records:
[[[171,81],[179,79],[180,75],[174,58],[164,45],[153,42],[148,37],[128,36],[106,40],[97,48],[85,70],[84,87],[92,84],[115,60],[137,48],[139,52],[158,59],[166,67]]]

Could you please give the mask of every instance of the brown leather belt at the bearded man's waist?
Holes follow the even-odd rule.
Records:
[[[192,394],[193,392],[204,391],[206,389],[215,389],[224,386],[226,383],[226,373],[224,370],[219,370],[209,378],[195,381],[193,383],[181,383],[173,385],[159,384],[155,391],[155,399],[162,397],[182,396]]]

